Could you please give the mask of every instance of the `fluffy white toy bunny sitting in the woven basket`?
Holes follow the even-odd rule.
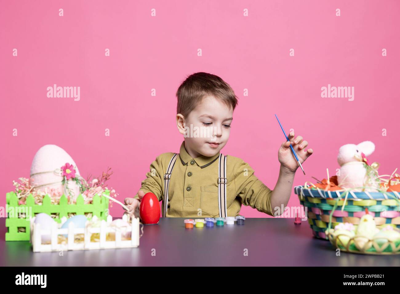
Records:
[[[339,148],[338,163],[340,174],[338,175],[338,186],[341,188],[357,188],[353,191],[376,192],[379,184],[376,180],[367,177],[368,164],[366,156],[374,152],[375,145],[371,141],[364,141],[360,144],[346,144]],[[359,188],[359,187],[369,188]]]

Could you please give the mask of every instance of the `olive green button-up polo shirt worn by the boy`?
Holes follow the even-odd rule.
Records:
[[[150,172],[142,181],[140,190],[152,192],[158,200],[164,200],[164,174],[174,153],[163,153],[150,165]],[[179,156],[172,170],[167,217],[218,217],[218,157],[192,158],[180,146]],[[237,216],[243,205],[256,208],[273,216],[272,190],[256,176],[250,165],[234,156],[226,156],[226,210],[227,216]],[[138,198],[138,194],[135,195]]]

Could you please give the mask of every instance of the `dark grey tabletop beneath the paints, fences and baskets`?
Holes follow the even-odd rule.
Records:
[[[308,222],[246,218],[245,224],[185,229],[184,218],[145,225],[138,248],[32,252],[29,242],[4,241],[0,219],[0,266],[399,266],[400,256],[336,252],[312,236]],[[248,256],[244,256],[244,250]],[[155,256],[152,256],[152,252]]]

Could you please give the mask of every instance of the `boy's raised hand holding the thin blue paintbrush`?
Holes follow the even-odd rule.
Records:
[[[297,136],[294,139],[294,132],[290,132],[288,135],[289,141],[282,143],[278,151],[278,160],[284,168],[289,172],[295,173],[299,167],[296,158],[294,157],[292,150],[290,149],[290,144],[299,158],[300,163],[303,163],[308,156],[313,152],[311,148],[306,149],[308,142],[303,140],[302,136]]]

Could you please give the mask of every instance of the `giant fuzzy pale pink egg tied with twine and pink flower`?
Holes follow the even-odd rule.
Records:
[[[68,164],[68,165],[67,165]],[[73,196],[79,195],[79,186],[72,180],[79,176],[79,170],[74,160],[62,148],[56,145],[44,145],[36,152],[30,167],[30,184],[37,186],[37,191],[47,192],[54,188],[62,194],[68,195],[62,185],[63,170],[67,177],[67,187]],[[47,189],[47,190],[46,190]]]

